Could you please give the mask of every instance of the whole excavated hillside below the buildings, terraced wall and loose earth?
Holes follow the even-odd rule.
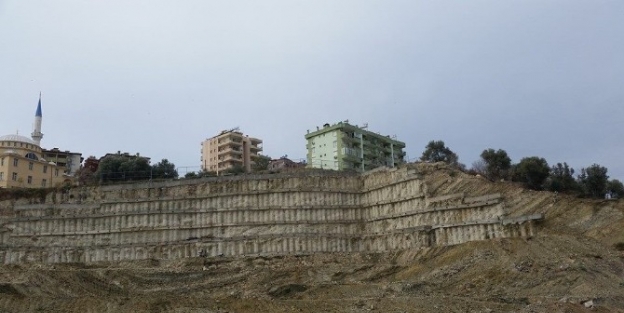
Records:
[[[443,163],[0,200],[0,312],[624,312],[624,204]]]

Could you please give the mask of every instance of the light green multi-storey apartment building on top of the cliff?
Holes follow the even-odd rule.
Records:
[[[305,138],[308,167],[363,172],[404,162],[404,142],[346,121],[317,127]]]

